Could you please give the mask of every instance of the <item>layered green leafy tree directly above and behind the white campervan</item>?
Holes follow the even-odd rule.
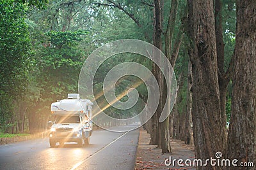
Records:
[[[81,66],[83,65],[83,51],[78,48],[86,32],[67,31],[47,32],[46,43],[40,48],[40,82],[41,88],[47,95],[44,97],[67,96],[68,92],[77,92],[77,81]],[[44,73],[44,70],[47,70]],[[49,95],[51,94],[51,95]],[[60,98],[59,98],[60,99]]]

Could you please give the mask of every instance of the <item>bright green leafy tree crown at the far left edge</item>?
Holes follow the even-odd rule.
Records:
[[[26,6],[12,0],[0,1],[0,90],[19,92],[26,85],[29,66]]]

